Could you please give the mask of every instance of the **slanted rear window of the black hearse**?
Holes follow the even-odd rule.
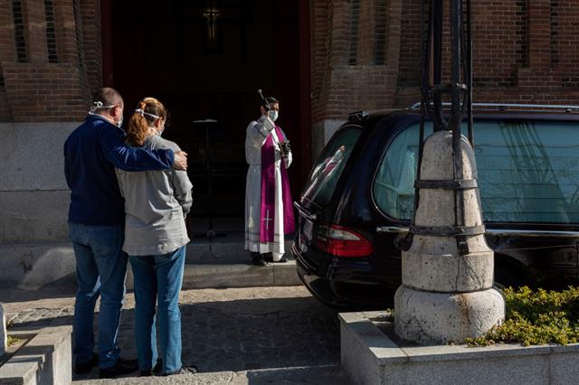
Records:
[[[339,175],[361,133],[360,127],[352,126],[342,128],[332,136],[308,176],[301,195],[302,202],[314,202],[318,206],[324,206],[329,202]]]

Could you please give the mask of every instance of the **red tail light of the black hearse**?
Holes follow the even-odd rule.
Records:
[[[336,224],[318,226],[316,246],[327,254],[346,258],[367,257],[374,252],[368,239],[355,230]]]

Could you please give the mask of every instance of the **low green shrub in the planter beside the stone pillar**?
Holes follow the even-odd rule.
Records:
[[[505,322],[479,338],[467,339],[469,346],[495,342],[525,346],[546,343],[565,345],[579,342],[579,288],[536,292],[527,286],[503,291],[507,305]]]

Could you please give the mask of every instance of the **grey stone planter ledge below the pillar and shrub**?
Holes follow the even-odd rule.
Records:
[[[385,315],[338,315],[342,366],[356,384],[564,384],[579,378],[579,344],[421,346],[390,333],[393,323],[380,321]]]

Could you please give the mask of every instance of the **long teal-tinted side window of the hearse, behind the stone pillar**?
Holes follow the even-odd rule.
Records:
[[[484,221],[579,223],[578,128],[572,122],[476,121]],[[375,176],[375,202],[395,219],[413,215],[418,130],[414,124],[394,138]],[[425,132],[432,132],[431,122]]]

